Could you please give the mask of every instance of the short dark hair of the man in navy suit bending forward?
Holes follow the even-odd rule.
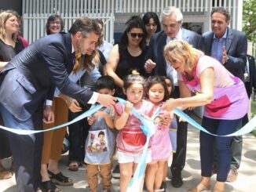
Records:
[[[91,32],[101,36],[101,29],[98,24],[87,16],[82,16],[75,20],[69,30],[69,33],[74,35],[79,31],[82,33],[83,38],[86,38],[87,34]]]

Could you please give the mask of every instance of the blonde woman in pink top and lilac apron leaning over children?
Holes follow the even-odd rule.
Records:
[[[164,56],[178,72],[181,96],[168,100],[163,109],[174,107],[197,107],[205,105],[202,126],[217,135],[236,132],[248,111],[248,97],[243,82],[234,77],[225,67],[210,56],[204,56],[188,43],[175,40],[165,46]],[[191,92],[195,95],[191,96]],[[217,151],[217,182],[214,192],[225,190],[231,152],[232,137],[211,136],[200,132],[200,158],[202,179],[192,192],[210,189],[211,168],[214,162],[214,147]]]

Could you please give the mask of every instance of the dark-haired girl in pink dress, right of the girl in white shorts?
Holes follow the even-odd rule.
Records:
[[[155,113],[162,106],[163,102],[169,98],[169,92],[166,86],[165,78],[161,76],[152,76],[146,83],[149,101],[154,105],[151,114]],[[159,190],[163,182],[165,164],[170,157],[172,147],[170,144],[169,125],[161,123],[163,118],[170,118],[170,113],[160,112],[161,117],[155,118],[157,130],[152,136],[151,151],[152,162],[147,165],[145,183],[147,190],[152,192]],[[170,122],[170,121],[169,121]]]

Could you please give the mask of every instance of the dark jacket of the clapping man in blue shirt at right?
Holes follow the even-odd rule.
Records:
[[[227,29],[225,49],[229,55],[229,60],[224,63],[224,66],[233,75],[244,80],[243,71],[247,63],[247,37],[241,31],[229,27]],[[203,51],[207,56],[210,56],[213,39],[214,32],[208,31],[203,34]]]

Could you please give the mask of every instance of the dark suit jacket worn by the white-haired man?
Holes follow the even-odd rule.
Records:
[[[151,59],[156,63],[153,73],[157,75],[166,75],[166,60],[163,56],[166,38],[167,36],[164,31],[153,34],[149,42],[147,55],[145,56],[145,60]],[[196,49],[202,49],[203,39],[196,32],[182,28],[182,40],[188,42]]]

